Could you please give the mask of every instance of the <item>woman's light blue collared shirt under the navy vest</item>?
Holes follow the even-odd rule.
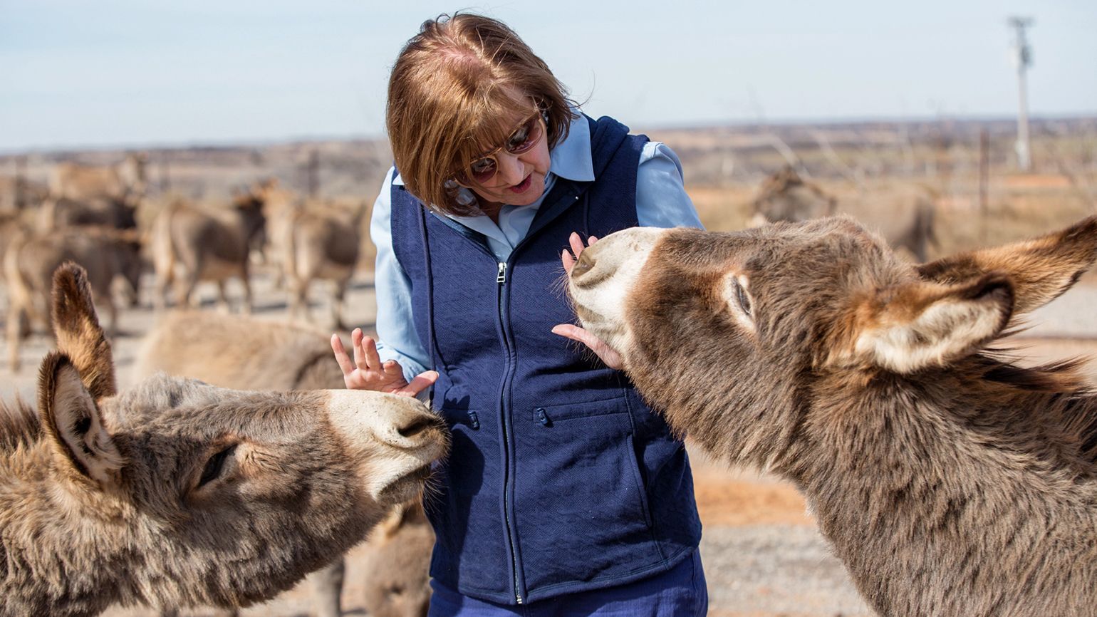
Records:
[[[590,125],[579,116],[572,121],[567,138],[550,154],[544,192],[529,205],[504,205],[497,225],[485,214],[453,216],[453,221],[479,232],[499,262],[506,262],[510,251],[525,237],[541,202],[556,178],[589,182],[595,179],[590,154]],[[404,181],[392,168],[385,176],[377,201],[373,204],[370,238],[377,247],[374,289],[377,294],[377,355],[382,361],[396,360],[404,367],[408,381],[428,370],[430,355],[415,332],[411,316],[411,281],[393,251],[392,187]],[[438,216],[436,213],[431,213]],[[669,147],[659,142],[644,144],[636,169],[636,218],[642,227],[701,228],[693,202],[686,193],[682,166]]]

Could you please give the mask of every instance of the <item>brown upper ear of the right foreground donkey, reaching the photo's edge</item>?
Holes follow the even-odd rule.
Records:
[[[1006,272],[1014,283],[1017,314],[1051,302],[1097,260],[1097,216],[1039,238],[964,253],[918,267],[928,281],[952,283],[987,272]]]

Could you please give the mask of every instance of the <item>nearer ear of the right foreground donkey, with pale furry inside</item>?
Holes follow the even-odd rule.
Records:
[[[943,367],[998,336],[1013,305],[1013,284],[1000,272],[881,290],[855,312],[853,356],[897,373]]]

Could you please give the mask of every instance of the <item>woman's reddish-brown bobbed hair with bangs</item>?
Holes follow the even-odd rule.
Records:
[[[516,97],[518,94],[518,97]],[[404,186],[428,206],[478,213],[457,203],[446,180],[509,136],[500,117],[545,110],[548,147],[567,136],[576,103],[548,66],[498,20],[470,13],[423,22],[388,80],[386,124]]]

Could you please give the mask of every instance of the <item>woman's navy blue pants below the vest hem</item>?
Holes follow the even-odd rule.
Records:
[[[697,550],[651,579],[521,606],[472,598],[437,581],[430,585],[434,595],[428,617],[704,617],[709,612],[709,590]]]

